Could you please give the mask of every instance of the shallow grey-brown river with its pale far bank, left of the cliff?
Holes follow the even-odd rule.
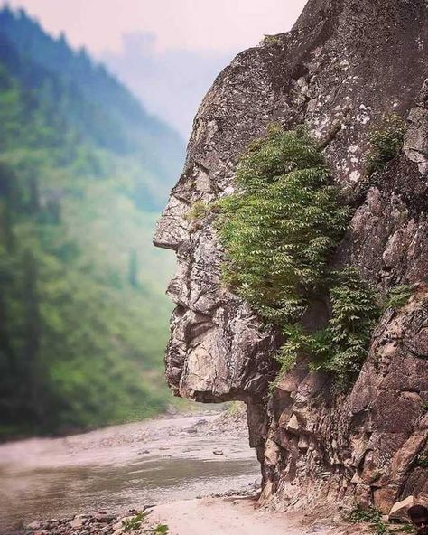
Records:
[[[182,426],[194,425],[195,418],[177,422],[163,421],[159,430],[152,424],[148,432],[144,425],[116,426],[81,437],[0,446],[3,530],[75,513],[126,512],[242,490],[259,478],[247,437],[207,437],[203,431],[188,436]]]

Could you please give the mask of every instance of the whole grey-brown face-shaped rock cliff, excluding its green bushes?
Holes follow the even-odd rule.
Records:
[[[388,512],[411,494],[428,501],[427,79],[426,1],[310,0],[290,33],[240,53],[219,74],[195,117],[154,237],[178,257],[166,376],[182,397],[247,402],[265,502],[322,498]],[[405,145],[362,187],[368,133],[391,112],[408,122]],[[333,396],[330,378],[299,362],[267,395],[279,333],[219,284],[213,216],[184,217],[194,202],[233,191],[237,158],[273,121],[306,123],[352,192],[356,211],[335,264],[358,267],[383,295],[414,285],[407,305],[383,314],[347,394]]]

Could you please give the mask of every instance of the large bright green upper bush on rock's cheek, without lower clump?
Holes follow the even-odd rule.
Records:
[[[271,127],[237,168],[238,191],[219,202],[223,280],[275,324],[294,322],[321,289],[349,218],[321,152],[303,127]]]

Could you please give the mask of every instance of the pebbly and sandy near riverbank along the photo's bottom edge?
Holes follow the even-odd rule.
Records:
[[[167,502],[121,517],[102,511],[72,519],[33,522],[25,535],[357,535],[367,526],[331,526],[330,519],[301,512],[270,512],[257,507],[256,496],[205,497]]]

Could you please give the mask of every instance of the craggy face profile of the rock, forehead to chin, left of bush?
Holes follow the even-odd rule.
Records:
[[[184,172],[155,232],[154,245],[175,250],[178,258],[167,291],[177,307],[165,364],[170,387],[181,397],[257,399],[274,379],[277,333],[222,286],[214,216],[191,221],[186,214],[195,202],[231,192],[238,156],[264,132],[278,105],[260,51],[237,56],[200,106]]]

